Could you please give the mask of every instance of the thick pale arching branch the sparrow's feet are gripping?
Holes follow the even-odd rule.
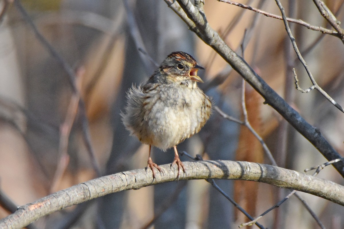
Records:
[[[310,193],[344,206],[344,186],[297,171],[272,165],[240,161],[184,162],[186,174],[180,180],[235,179],[259,181],[278,187]],[[55,211],[110,193],[175,181],[178,169],[170,164],[160,166],[162,173],[152,181],[151,170],[137,169],[86,181],[19,207],[0,220],[0,228],[22,228]]]

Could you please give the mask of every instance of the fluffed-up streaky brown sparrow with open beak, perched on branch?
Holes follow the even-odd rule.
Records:
[[[209,97],[198,88],[203,80],[197,71],[204,69],[189,54],[173,52],[154,71],[149,80],[127,92],[127,104],[122,112],[122,121],[131,135],[149,145],[147,168],[152,170],[155,179],[151,147],[165,151],[174,149],[171,163],[178,167],[177,179],[185,167],[179,158],[176,146],[198,133],[212,113]]]

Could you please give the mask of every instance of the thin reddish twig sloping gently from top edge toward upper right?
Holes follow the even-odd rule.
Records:
[[[238,3],[238,2],[234,2],[234,1],[230,1],[230,0],[218,0],[218,1],[219,2],[225,2],[225,3],[228,3],[228,4],[232,4],[232,5],[236,5],[238,7],[244,8],[244,9],[248,9],[248,10],[252,10],[252,11],[257,12],[257,13],[261,13],[261,14],[263,14],[265,16],[268,16],[268,17],[271,17],[271,18],[276,18],[276,19],[282,20],[282,17],[279,16],[279,15],[268,13],[266,11],[250,7],[249,5],[244,5],[244,4],[241,4],[241,3]],[[305,26],[305,27],[307,27],[307,28],[309,28],[311,30],[319,31],[319,32],[322,32],[322,33],[326,33],[326,34],[330,34],[330,35],[339,37],[338,32],[336,32],[336,31],[329,30],[329,29],[323,28],[321,26],[313,26],[313,25],[311,25],[311,24],[309,24],[307,22],[304,22],[304,21],[302,21],[300,19],[293,19],[293,18],[286,18],[286,19],[289,22]]]

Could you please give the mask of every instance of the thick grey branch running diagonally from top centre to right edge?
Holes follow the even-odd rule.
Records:
[[[295,111],[281,96],[279,96],[258,74],[238,56],[204,20],[203,16],[188,0],[165,0],[169,7],[176,12],[189,28],[197,34],[207,45],[211,46],[224,60],[233,67],[262,97],[265,104],[272,106],[283,116],[300,134],[309,140],[327,160],[341,158],[340,154],[324,138],[318,128],[310,125]],[[180,4],[178,4],[178,3]],[[181,12],[180,9],[184,12]],[[333,164],[336,170],[344,176],[344,163]]]

